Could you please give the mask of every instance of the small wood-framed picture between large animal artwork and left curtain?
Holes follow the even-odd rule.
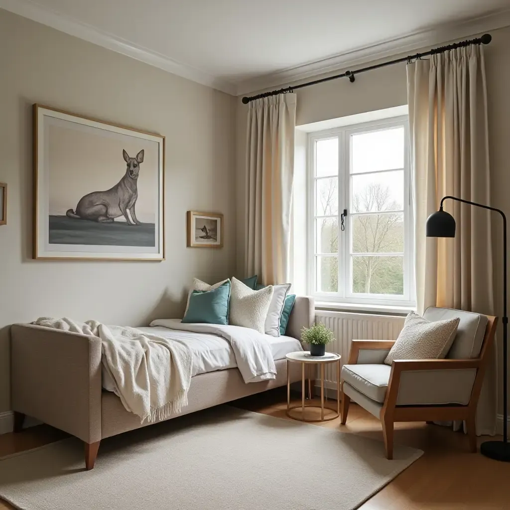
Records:
[[[188,211],[186,234],[188,248],[223,248],[223,215]]]

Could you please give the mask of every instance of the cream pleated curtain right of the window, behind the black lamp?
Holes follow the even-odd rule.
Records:
[[[427,217],[445,195],[490,205],[483,49],[458,48],[409,64],[407,96],[418,311],[439,306],[494,315],[491,213],[446,200],[444,209],[457,225],[455,238],[425,237]],[[495,351],[478,404],[478,435],[495,433]]]

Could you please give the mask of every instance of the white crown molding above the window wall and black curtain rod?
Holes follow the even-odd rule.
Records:
[[[246,95],[282,85],[288,86],[307,78],[317,77],[319,74],[339,71],[428,46],[442,45],[446,41],[463,39],[508,26],[510,26],[510,9],[458,23],[440,25],[432,30],[381,41],[334,57],[246,80],[238,84],[237,95]]]

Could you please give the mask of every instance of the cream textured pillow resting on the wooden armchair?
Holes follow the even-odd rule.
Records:
[[[457,334],[461,319],[430,322],[411,312],[404,322],[397,341],[384,361],[393,360],[440,360],[445,358]]]

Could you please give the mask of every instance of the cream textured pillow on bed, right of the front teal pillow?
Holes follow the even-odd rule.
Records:
[[[237,278],[232,278],[228,324],[249,327],[264,334],[272,297],[272,285],[261,290],[251,290]]]

